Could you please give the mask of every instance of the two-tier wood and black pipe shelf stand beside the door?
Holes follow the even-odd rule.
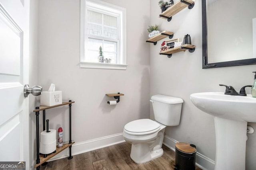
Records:
[[[69,156],[68,159],[72,159],[73,156],[71,156],[71,147],[75,142],[72,142],[71,140],[71,106],[72,106],[71,100],[69,102],[63,102],[62,104],[54,105],[54,106],[39,106],[36,107],[34,112],[36,113],[36,164],[34,168],[37,170],[40,169],[40,165],[47,163],[46,161],[55,156],[56,154],[62,152],[66,148],[69,148]],[[63,147],[58,148],[56,147],[56,152],[47,154],[46,158],[44,158],[44,154],[40,154],[39,152],[39,113],[40,111],[43,111],[43,131],[45,130],[45,110],[46,109],[51,109],[54,107],[59,107],[59,106],[64,106],[64,105],[69,105],[69,141],[66,144],[63,144]]]

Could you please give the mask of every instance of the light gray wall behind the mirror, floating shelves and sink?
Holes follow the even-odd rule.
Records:
[[[168,22],[158,18],[160,14],[158,0],[150,0],[150,25],[159,24],[162,30],[174,32],[174,38],[190,34],[194,53],[188,51],[175,53],[172,58],[158,55],[159,41],[150,45],[150,95],[165,94],[184,100],[180,125],[167,127],[166,135],[179,142],[193,143],[198,152],[215,160],[214,117],[197,109],[190,101],[190,94],[197,92],[224,92],[218,84],[227,84],[240,89],[253,83],[252,71],[255,65],[233,66],[226,68],[202,69],[202,12],[201,1],[196,1],[192,10],[188,8],[172,17]],[[250,94],[250,89],[247,89]],[[150,106],[150,117],[153,110]],[[249,123],[256,128],[255,123]],[[256,135],[248,135],[246,149],[246,170],[256,166]],[[235,148],[234,148],[235,149]],[[254,156],[253,156],[254,155]]]

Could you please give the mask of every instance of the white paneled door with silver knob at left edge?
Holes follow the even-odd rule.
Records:
[[[0,0],[0,161],[29,162],[29,0]]]

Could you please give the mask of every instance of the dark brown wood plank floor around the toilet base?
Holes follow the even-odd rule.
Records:
[[[174,170],[175,152],[163,145],[164,154],[146,162],[136,164],[130,158],[131,144],[120,143],[110,147],[78,154],[48,162],[40,170]],[[196,168],[196,170],[201,170]]]

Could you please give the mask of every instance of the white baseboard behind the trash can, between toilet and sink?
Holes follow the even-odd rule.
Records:
[[[175,144],[178,143],[175,139],[172,139],[171,137],[164,135],[164,145],[166,147],[174,150],[175,152]],[[196,166],[201,168],[202,170],[214,170],[215,161],[204,156],[203,154],[200,154],[199,152],[196,152]]]

